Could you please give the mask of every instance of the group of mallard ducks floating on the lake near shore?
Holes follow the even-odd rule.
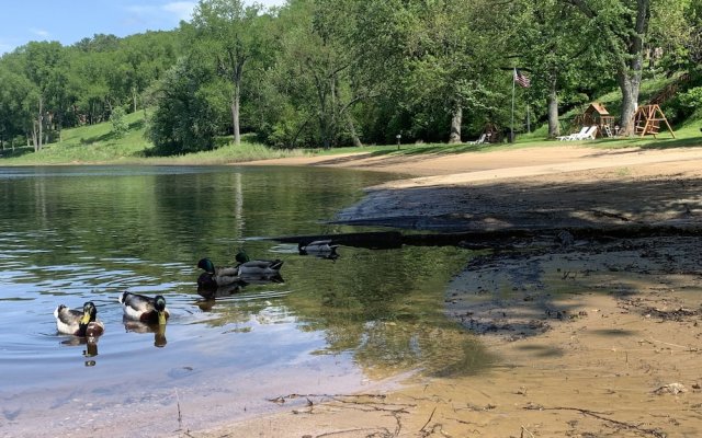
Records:
[[[301,254],[310,254],[336,258],[337,247],[330,240],[313,241],[299,244]],[[283,266],[281,260],[250,260],[246,252],[236,255],[237,265],[231,267],[216,267],[210,258],[202,258],[197,267],[204,272],[197,278],[197,292],[205,298],[214,298],[214,291],[233,285],[252,281],[275,281],[280,279]],[[139,293],[122,292],[117,298],[122,304],[124,319],[127,322],[141,322],[163,327],[170,313],[166,308],[166,298],[161,295],[147,297]],[[98,309],[92,301],[83,304],[82,311],[60,304],[54,311],[56,328],[61,334],[75,335],[94,339],[102,335],[105,327],[98,320]]]

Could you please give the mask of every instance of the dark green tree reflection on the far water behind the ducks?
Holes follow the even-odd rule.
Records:
[[[231,263],[246,237],[318,232],[318,220],[382,181],[328,170],[80,169],[0,181],[8,207],[0,219],[30,241],[33,278],[46,266],[66,268],[52,273],[53,287],[103,287],[121,277],[186,283],[183,262],[193,270],[204,255]]]

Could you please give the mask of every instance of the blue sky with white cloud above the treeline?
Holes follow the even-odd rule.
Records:
[[[247,4],[252,1],[245,0]],[[264,7],[285,0],[257,0]],[[190,21],[196,0],[0,0],[0,55],[29,42],[70,46],[95,34],[170,31]]]

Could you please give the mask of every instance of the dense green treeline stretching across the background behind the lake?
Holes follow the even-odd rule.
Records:
[[[162,153],[241,132],[278,148],[458,142],[528,117],[554,137],[564,110],[611,91],[631,132],[646,78],[692,78],[664,103],[673,122],[702,105],[701,30],[702,0],[201,0],[173,31],[2,56],[0,142],[39,150],[139,111]]]

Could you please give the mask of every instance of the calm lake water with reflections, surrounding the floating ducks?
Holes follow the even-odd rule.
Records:
[[[0,436],[173,435],[489,359],[442,313],[469,253],[343,246],[330,261],[267,238],[329,224],[389,176],[237,166],[0,168]],[[237,249],[283,258],[283,283],[205,301],[195,264]],[[165,333],[122,319],[121,291],[168,301]],[[58,304],[98,307],[95,345],[59,335]],[[180,417],[179,417],[180,411]]]

